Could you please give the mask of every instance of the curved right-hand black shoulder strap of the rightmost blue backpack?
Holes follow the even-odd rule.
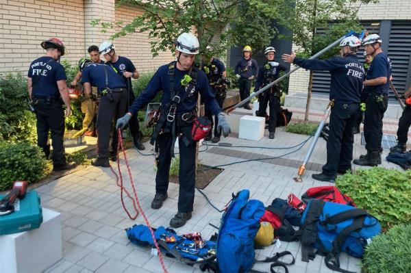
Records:
[[[354,218],[352,224],[345,227],[345,229],[338,233],[336,239],[334,239],[334,242],[332,243],[332,251],[329,252],[327,256],[325,256],[325,265],[327,265],[327,268],[343,273],[353,273],[351,271],[343,270],[340,268],[340,259],[338,255],[340,255],[340,248],[341,246],[343,246],[345,239],[347,239],[349,233],[353,231],[359,231],[364,227],[365,217],[366,216],[362,215]]]

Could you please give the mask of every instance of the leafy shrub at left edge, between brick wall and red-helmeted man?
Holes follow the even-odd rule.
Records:
[[[0,141],[36,142],[36,117],[29,111],[27,79],[21,73],[0,78]]]

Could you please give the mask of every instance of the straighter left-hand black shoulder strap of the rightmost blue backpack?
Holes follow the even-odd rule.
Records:
[[[306,219],[300,228],[302,261],[309,261],[315,257],[315,251],[312,245],[317,241],[317,223],[319,222],[319,216],[323,211],[323,206],[324,201],[321,199],[313,199],[310,201]]]

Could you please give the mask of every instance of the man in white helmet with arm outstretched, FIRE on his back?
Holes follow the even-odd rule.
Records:
[[[310,70],[328,70],[331,74],[329,100],[334,100],[329,117],[329,138],[327,140],[327,163],[319,174],[312,178],[319,181],[334,182],[337,173],[351,171],[353,159],[353,126],[358,118],[360,92],[364,68],[356,53],[361,41],[355,36],[340,42],[340,56],[327,60],[305,60],[284,54],[285,62],[293,62]]]

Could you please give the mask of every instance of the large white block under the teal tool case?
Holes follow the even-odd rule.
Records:
[[[42,208],[38,229],[0,236],[0,272],[40,273],[62,259],[60,213]]]

